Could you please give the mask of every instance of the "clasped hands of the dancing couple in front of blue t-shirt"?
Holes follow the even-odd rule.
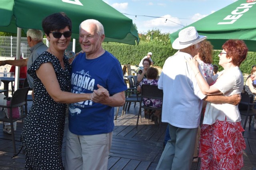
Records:
[[[90,95],[92,102],[106,104],[106,102],[110,98],[108,90],[100,86],[99,84],[97,84],[97,87],[98,90],[93,90],[93,93]]]

